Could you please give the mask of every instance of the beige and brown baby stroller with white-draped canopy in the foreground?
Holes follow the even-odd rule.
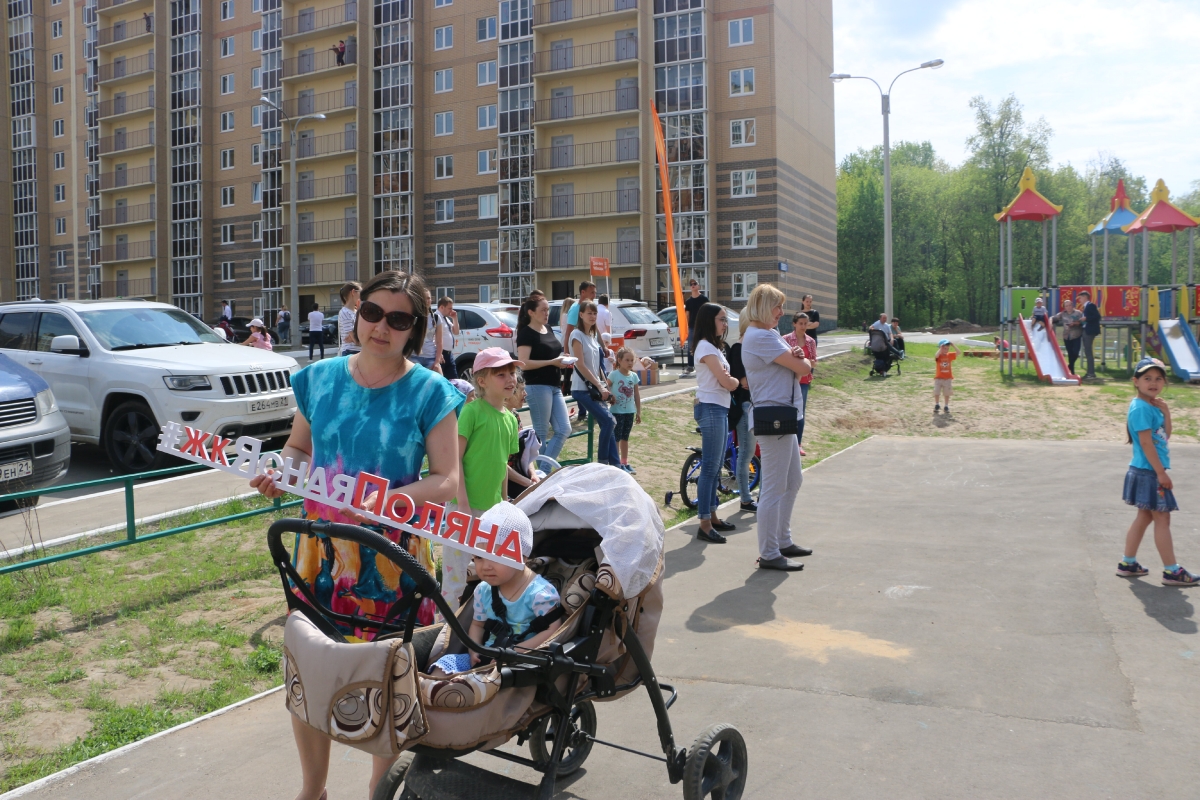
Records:
[[[484,646],[466,627],[472,604],[457,613],[437,581],[385,536],[356,525],[281,519],[268,543],[288,602],[284,696],[289,711],[335,741],[378,756],[403,753],[376,800],[522,798],[550,800],[554,782],[571,775],[595,744],[666,763],[685,800],[738,800],[746,783],[746,747],[732,726],[704,730],[691,748],[677,747],[667,709],[678,697],[650,666],[662,610],[664,528],[653,500],[626,473],[601,464],[562,469],[517,501],[533,522],[527,564],[559,591],[562,626],[535,650]],[[338,614],[296,572],[283,535],[359,545],[379,572],[400,570],[404,596],[386,618]],[[473,587],[468,587],[473,589]],[[467,595],[464,595],[466,597]],[[446,622],[418,626],[422,599]],[[352,643],[342,631],[361,633]],[[425,670],[443,655],[472,651],[482,661],[467,673]],[[596,738],[594,703],[644,686],[654,708],[662,756]],[[529,756],[499,750],[516,738]],[[456,760],[484,752],[542,774],[539,786]]]

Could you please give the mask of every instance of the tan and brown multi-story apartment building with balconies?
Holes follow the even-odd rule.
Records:
[[[0,297],[665,303],[656,109],[684,282],[836,318],[829,0],[6,2]]]

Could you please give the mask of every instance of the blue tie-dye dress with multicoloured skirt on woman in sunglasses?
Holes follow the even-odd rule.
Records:
[[[308,365],[292,378],[296,405],[312,428],[312,469],[325,469],[326,486],[338,474],[371,473],[389,488],[420,480],[425,438],[463,397],[449,381],[414,365],[403,378],[380,389],[365,389],[350,377],[349,359]],[[331,506],[305,500],[304,516],[354,523]],[[378,529],[413,554],[432,575],[427,539],[395,529]],[[322,603],[352,616],[384,618],[414,584],[374,551],[342,540],[298,536],[295,566]],[[432,602],[422,601],[419,620],[433,620]],[[347,633],[358,636],[360,631]]]

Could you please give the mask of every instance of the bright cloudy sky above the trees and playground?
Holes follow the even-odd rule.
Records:
[[[1015,94],[1054,130],[1050,156],[1082,170],[1102,154],[1172,194],[1200,180],[1196,0],[833,0],[834,68],[884,91],[900,78],[892,142],[930,140],[952,164],[974,132],[967,103]],[[878,90],[834,88],[838,158],[882,144]]]

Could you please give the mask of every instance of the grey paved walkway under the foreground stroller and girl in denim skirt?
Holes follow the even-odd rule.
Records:
[[[1200,446],[1172,457],[1195,569]],[[677,738],[737,724],[755,800],[1192,796],[1196,600],[1112,576],[1127,459],[1094,443],[871,439],[806,474],[794,529],[816,555],[798,575],[754,569],[752,518],[732,515],[724,546],[670,531],[654,663],[679,686]],[[1150,546],[1144,561],[1158,566]],[[655,748],[644,696],[599,712],[601,738]],[[365,762],[335,746],[330,800],[365,796]],[[26,796],[289,800],[296,769],[272,694]],[[598,746],[559,796],[680,794],[661,764]]]

